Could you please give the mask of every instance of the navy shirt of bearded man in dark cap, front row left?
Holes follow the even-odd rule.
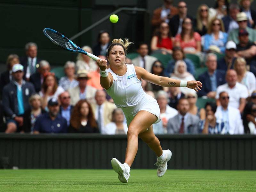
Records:
[[[67,120],[60,114],[52,120],[49,113],[45,113],[37,118],[34,131],[40,133],[66,133],[68,132]]]

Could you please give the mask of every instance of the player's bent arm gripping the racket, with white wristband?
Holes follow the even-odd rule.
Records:
[[[97,64],[100,68],[100,85],[104,89],[108,89],[113,82],[113,76],[107,72],[107,60],[98,59]]]

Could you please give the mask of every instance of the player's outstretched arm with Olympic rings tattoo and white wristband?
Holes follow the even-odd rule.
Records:
[[[194,89],[196,92],[201,90],[202,87],[202,83],[200,81],[188,81],[186,84],[184,84],[184,81],[172,79],[169,77],[157,76],[149,73],[146,69],[141,67],[135,67],[135,71],[139,79],[142,78],[145,81],[160,85],[162,87],[188,87],[190,89]]]

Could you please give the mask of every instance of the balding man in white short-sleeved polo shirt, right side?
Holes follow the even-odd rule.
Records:
[[[237,82],[237,74],[234,69],[229,69],[227,71],[226,81],[227,83],[217,87],[215,97],[217,100],[217,105],[220,104],[220,93],[225,91],[230,97],[229,106],[237,108],[239,109],[240,113],[243,113],[245,100],[249,96],[246,86]]]

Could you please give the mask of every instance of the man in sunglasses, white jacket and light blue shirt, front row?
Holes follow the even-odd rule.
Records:
[[[217,107],[215,117],[219,124],[217,132],[220,134],[244,134],[244,126],[241,120],[240,111],[229,105],[231,98],[228,92],[222,91],[218,94],[220,106]]]

